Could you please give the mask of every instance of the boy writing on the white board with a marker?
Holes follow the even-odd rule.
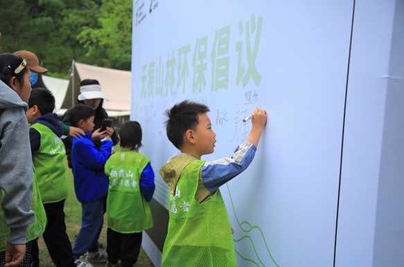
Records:
[[[219,187],[252,162],[267,115],[256,109],[249,136],[233,156],[209,162],[200,159],[213,153],[216,142],[207,112],[206,105],[188,100],[166,111],[168,139],[181,152],[159,171],[170,190],[164,267],[237,266],[229,215]]]

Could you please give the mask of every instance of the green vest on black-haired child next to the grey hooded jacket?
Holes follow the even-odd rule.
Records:
[[[62,140],[46,125],[31,125],[41,135],[41,145],[33,152],[33,165],[43,203],[55,203],[69,194],[66,180],[66,150]]]

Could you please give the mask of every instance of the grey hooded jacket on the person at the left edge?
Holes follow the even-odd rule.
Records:
[[[1,209],[10,228],[7,241],[13,244],[26,243],[28,224],[35,221],[34,212],[30,211],[33,162],[27,109],[17,93],[0,81],[0,189],[4,194]]]

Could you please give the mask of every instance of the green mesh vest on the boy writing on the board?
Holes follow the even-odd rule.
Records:
[[[162,266],[237,266],[229,215],[220,190],[204,203],[195,201],[203,160],[194,160],[182,171],[169,194],[170,221]]]

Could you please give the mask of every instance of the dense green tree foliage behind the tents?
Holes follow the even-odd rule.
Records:
[[[130,71],[132,1],[1,0],[0,53],[29,50],[47,75],[77,62]]]

